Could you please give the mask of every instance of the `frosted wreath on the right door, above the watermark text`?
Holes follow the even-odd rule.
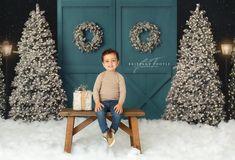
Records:
[[[149,32],[147,42],[141,42],[140,34]],[[150,22],[138,22],[130,30],[130,42],[140,52],[151,52],[160,43],[160,32],[156,25]]]

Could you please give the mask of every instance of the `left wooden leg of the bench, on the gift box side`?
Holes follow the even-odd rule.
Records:
[[[64,144],[64,151],[67,153],[70,153],[72,148],[74,119],[75,117],[67,117],[67,128]]]

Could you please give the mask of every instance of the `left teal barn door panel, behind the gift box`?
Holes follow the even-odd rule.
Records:
[[[115,1],[113,0],[59,0],[58,48],[63,84],[72,106],[73,91],[82,83],[93,88],[96,76],[103,71],[101,53],[105,48],[115,48]],[[77,25],[92,21],[103,30],[102,46],[93,53],[82,53],[73,43]]]

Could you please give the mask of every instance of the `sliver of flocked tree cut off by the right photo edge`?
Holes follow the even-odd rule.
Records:
[[[231,58],[232,69],[230,73],[230,79],[228,84],[228,118],[235,119],[235,55],[232,54]]]

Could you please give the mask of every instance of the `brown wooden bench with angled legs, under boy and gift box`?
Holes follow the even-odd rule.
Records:
[[[59,115],[67,117],[64,151],[70,153],[72,149],[73,136],[79,131],[81,131],[83,128],[91,124],[93,121],[95,121],[97,117],[94,111],[77,111],[71,108],[63,109],[59,113]],[[144,116],[145,115],[144,111],[142,111],[141,109],[127,109],[122,113],[122,115],[128,118],[129,127],[127,127],[124,123],[121,122],[119,128],[121,128],[123,131],[125,131],[127,134],[130,135],[131,146],[139,149],[141,152],[137,117]],[[75,117],[88,117],[88,118],[83,122],[81,122],[76,127],[74,127]],[[112,116],[110,112],[107,113],[106,118],[112,121]]]

